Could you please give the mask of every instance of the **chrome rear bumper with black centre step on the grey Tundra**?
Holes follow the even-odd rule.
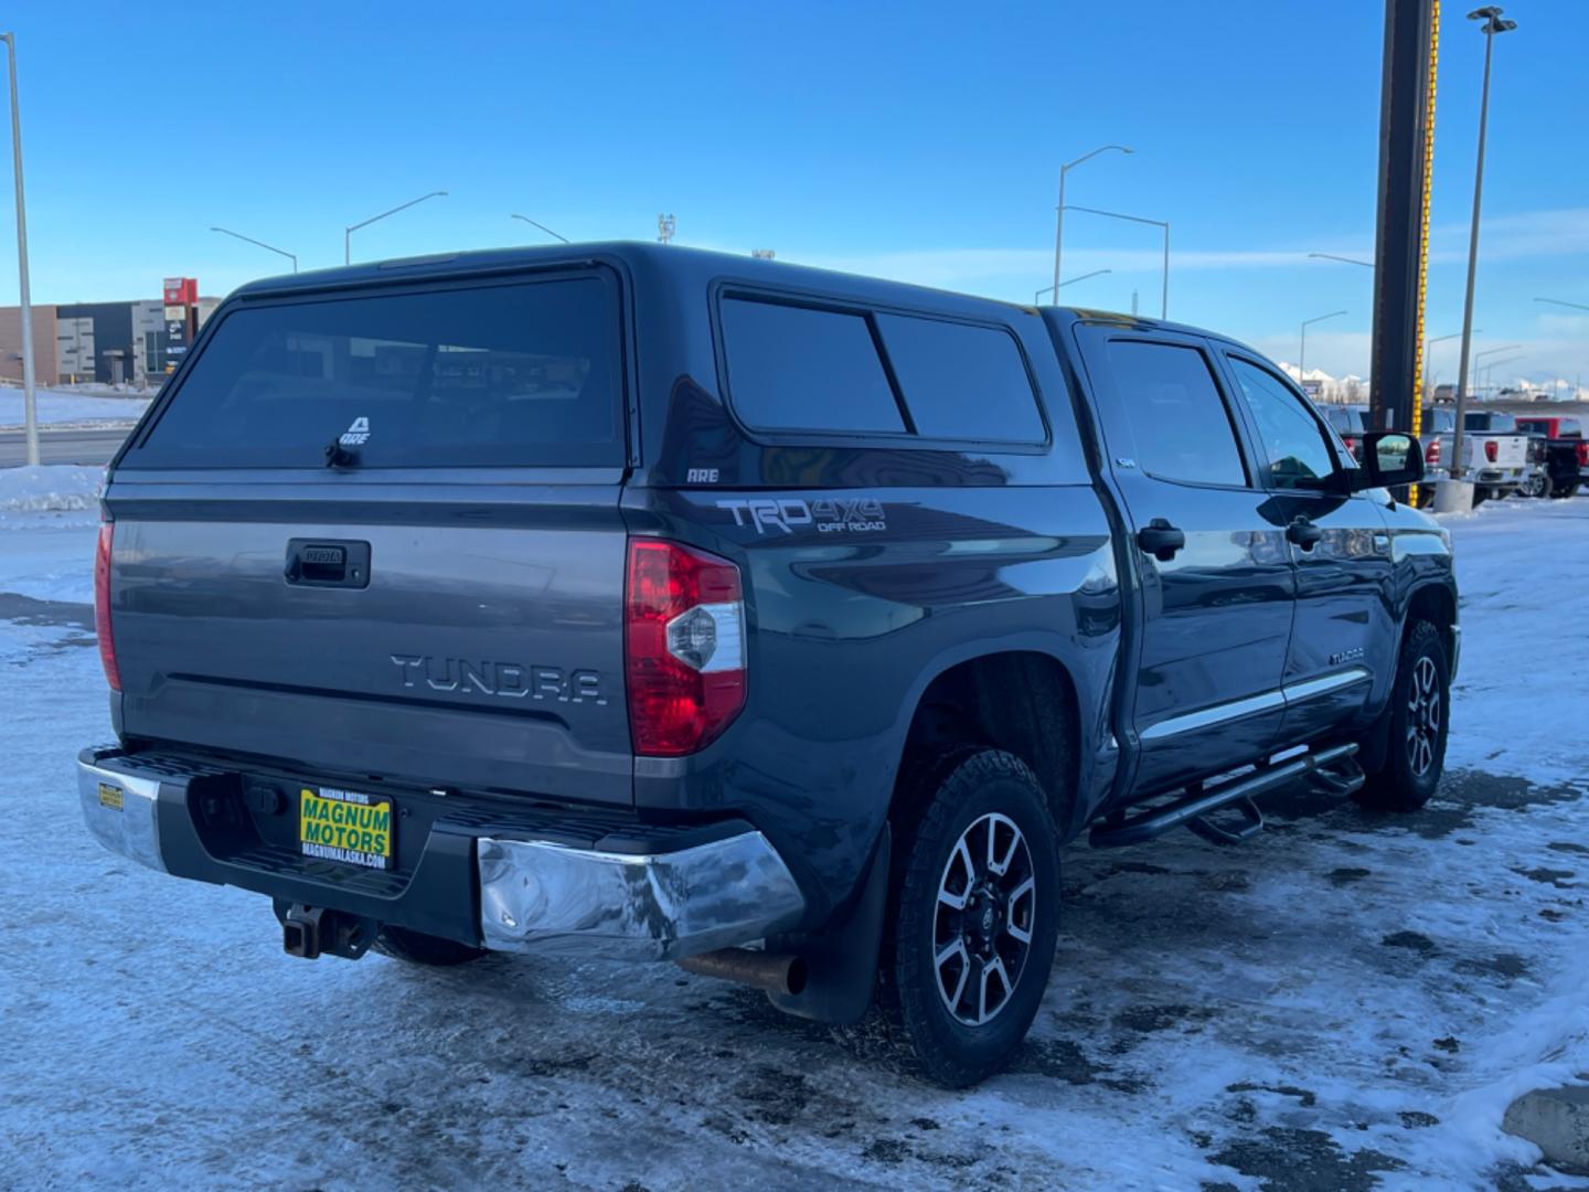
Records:
[[[412,873],[388,873],[380,888],[369,880],[381,876],[364,876],[361,892],[340,873],[327,880],[324,863],[292,852],[222,855],[207,847],[189,799],[189,784],[199,777],[168,760],[84,750],[83,819],[106,849],[160,873],[454,938],[478,931],[466,942],[504,952],[679,960],[761,939],[793,927],[806,911],[783,858],[744,822],[661,838],[679,839],[679,849],[653,844],[631,853],[534,839],[523,823],[437,820]],[[437,922],[448,927],[432,927]]]

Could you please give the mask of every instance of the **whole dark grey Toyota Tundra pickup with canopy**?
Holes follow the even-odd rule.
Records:
[[[297,957],[675,960],[963,1086],[1065,842],[1435,790],[1421,459],[1135,316],[658,245],[259,281],[108,472],[83,812]]]

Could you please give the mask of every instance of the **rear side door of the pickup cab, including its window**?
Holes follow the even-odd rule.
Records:
[[[1120,728],[1139,744],[1136,788],[1166,788],[1274,742],[1295,593],[1286,526],[1206,340],[1120,324],[1076,334],[1141,577]]]

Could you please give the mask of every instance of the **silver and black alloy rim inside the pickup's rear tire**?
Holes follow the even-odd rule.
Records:
[[[974,820],[949,853],[933,917],[938,995],[982,1027],[1009,1004],[1031,952],[1038,879],[1026,838],[1007,815]]]

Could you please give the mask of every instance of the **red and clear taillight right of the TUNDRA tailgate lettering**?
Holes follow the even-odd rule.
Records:
[[[648,757],[694,753],[745,706],[739,567],[674,542],[629,542],[629,733]]]

